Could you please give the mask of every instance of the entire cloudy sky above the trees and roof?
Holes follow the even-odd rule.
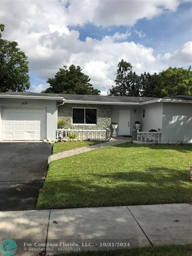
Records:
[[[137,74],[189,67],[191,11],[192,0],[1,0],[0,23],[28,56],[31,91],[75,64],[104,94],[121,59]]]

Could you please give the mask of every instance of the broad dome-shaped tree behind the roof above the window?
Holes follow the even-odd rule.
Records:
[[[100,91],[90,84],[89,76],[81,72],[79,66],[70,65],[60,68],[54,78],[47,79],[50,87],[44,93],[88,94],[99,95]]]

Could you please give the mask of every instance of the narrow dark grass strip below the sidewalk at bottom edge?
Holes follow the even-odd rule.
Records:
[[[108,251],[88,251],[63,253],[60,256],[191,256],[192,244],[148,246]]]

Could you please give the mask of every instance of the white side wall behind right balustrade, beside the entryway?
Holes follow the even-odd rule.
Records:
[[[151,129],[162,128],[162,114],[163,103],[151,103],[141,105],[141,131],[150,131]],[[145,117],[143,117],[143,110],[145,109]]]

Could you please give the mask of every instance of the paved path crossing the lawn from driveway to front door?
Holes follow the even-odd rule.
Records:
[[[113,146],[113,145],[117,145],[117,144],[121,144],[121,143],[126,143],[126,142],[131,142],[132,138],[131,137],[117,137],[116,139],[112,139],[109,142],[104,142],[104,143],[99,143],[99,144],[95,144],[95,145],[90,145],[87,147],[82,147],[82,148],[75,148],[75,149],[71,149],[71,150],[67,150],[58,154],[53,154],[48,158],[48,163],[51,163],[52,161],[55,160],[59,160],[61,158],[64,157],[70,157],[76,154],[81,154],[93,149],[98,149],[98,148],[103,148],[103,147],[107,147],[107,146]],[[71,142],[73,143],[73,142]]]

